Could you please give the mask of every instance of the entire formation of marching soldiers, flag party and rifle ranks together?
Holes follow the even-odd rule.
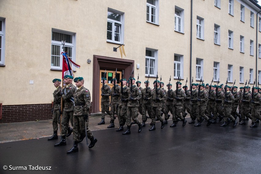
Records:
[[[133,71],[130,78],[127,80],[113,78],[111,88],[107,85],[107,78],[101,78],[101,121],[98,125],[105,124],[105,112],[110,115],[110,125],[108,128],[115,127],[115,115],[119,120],[119,127],[117,132],[123,131],[123,135],[130,134],[131,125],[138,125],[138,133],[146,127],[146,121],[151,119],[149,131],[156,130],[156,121],[161,122],[161,129],[168,124],[169,117],[172,116],[172,123],[170,127],[176,127],[179,121],[182,121],[184,127],[187,123],[185,119],[187,113],[190,114],[191,120],[188,124],[194,124],[194,127],[200,127],[202,122],[205,121],[206,126],[210,124],[217,124],[222,122],[221,127],[229,126],[233,122],[232,127],[236,127],[239,118],[239,125],[246,125],[246,121],[252,120],[250,127],[257,127],[257,123],[261,120],[261,89],[255,83],[252,87],[247,82],[244,87],[217,84],[213,85],[213,79],[209,84],[204,84],[204,80],[199,83],[191,81],[190,88],[186,84],[181,88],[182,83],[180,77],[176,81],[176,89],[172,89],[172,84],[169,82],[164,89],[164,82],[158,80],[153,81],[153,88],[149,87],[149,77],[144,81],[144,88],[141,87],[141,81],[136,81],[133,77]],[[139,77],[138,77],[139,78]],[[120,85],[117,84],[119,80]],[[72,84],[75,82],[76,87]],[[88,89],[84,84],[82,77],[73,78],[70,75],[64,76],[64,88],[61,88],[61,80],[53,80],[55,91],[53,93],[54,102],[52,108],[53,115],[53,131],[54,134],[48,140],[58,139],[57,131],[58,126],[61,126],[61,139],[60,142],[54,146],[66,145],[66,137],[69,137],[73,132],[73,147],[67,153],[74,153],[78,151],[78,143],[82,142],[86,137],[90,139],[89,148],[92,148],[97,139],[94,138],[91,130],[88,128],[89,124],[89,108],[91,106],[91,96]],[[136,85],[135,85],[136,84]],[[78,88],[78,89],[77,89]],[[174,87],[175,88],[175,87]],[[64,103],[61,108],[61,100]],[[237,108],[239,112],[237,112]],[[138,113],[142,115],[142,120],[138,119]],[[148,114],[148,115],[147,115]],[[62,116],[60,122],[60,115]],[[163,116],[164,115],[164,116]],[[218,119],[218,121],[217,121]],[[197,122],[196,122],[197,120]],[[69,121],[73,128],[69,127]],[[127,125],[127,130],[123,126]],[[88,144],[88,141],[87,141]]]

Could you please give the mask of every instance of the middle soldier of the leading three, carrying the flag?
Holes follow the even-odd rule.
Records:
[[[76,91],[76,87],[72,84],[73,76],[65,75],[64,81],[66,86],[60,92],[62,99],[64,100],[64,108],[62,112],[62,131],[61,131],[61,141],[54,146],[64,146],[66,145],[66,137],[69,137],[73,129],[69,127],[69,120],[71,125],[73,126],[73,114],[74,114],[74,92]],[[67,133],[67,134],[66,134]]]

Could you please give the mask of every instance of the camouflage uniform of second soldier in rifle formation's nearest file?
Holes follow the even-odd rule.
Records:
[[[156,90],[157,90],[157,95],[156,95]],[[156,98],[159,98],[159,101],[156,100]],[[166,99],[166,93],[161,89],[161,88],[155,88],[152,91],[152,104],[151,104],[151,119],[152,119],[152,124],[155,124],[156,117],[162,122],[164,120],[161,117],[161,101]]]

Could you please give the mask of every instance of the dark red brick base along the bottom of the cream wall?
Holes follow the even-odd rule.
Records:
[[[0,123],[15,123],[52,119],[52,104],[2,105]],[[90,113],[92,112],[92,103]]]

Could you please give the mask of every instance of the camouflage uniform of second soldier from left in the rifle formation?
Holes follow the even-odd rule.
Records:
[[[111,120],[114,120],[114,112],[116,115],[118,115],[118,107],[119,104],[119,91],[120,86],[118,84],[115,84],[115,90],[114,86],[112,87],[111,91]]]

